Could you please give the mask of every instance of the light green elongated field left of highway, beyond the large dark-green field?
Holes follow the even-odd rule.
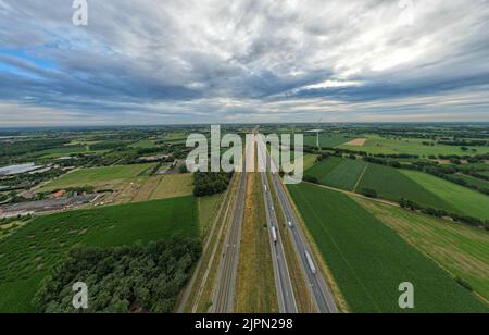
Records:
[[[74,171],[49,183],[42,191],[70,187],[93,186],[97,188],[114,187],[127,179],[137,177],[155,164],[115,165]]]

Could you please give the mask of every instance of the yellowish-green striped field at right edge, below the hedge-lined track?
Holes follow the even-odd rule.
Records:
[[[375,201],[358,201],[489,301],[489,233]]]

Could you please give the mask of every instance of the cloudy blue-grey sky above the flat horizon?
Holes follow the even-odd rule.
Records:
[[[489,0],[0,0],[0,126],[489,121]]]

